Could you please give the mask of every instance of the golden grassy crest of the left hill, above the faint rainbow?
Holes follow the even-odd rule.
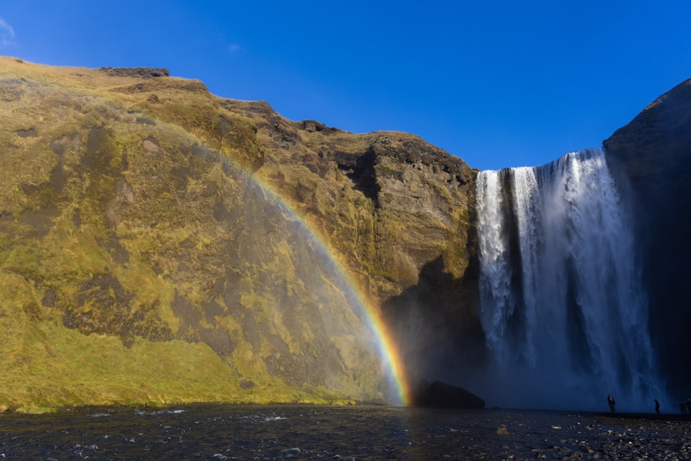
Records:
[[[256,126],[252,120],[225,111],[218,98],[197,80],[142,78],[108,72],[108,69],[44,66],[13,57],[0,57],[0,63],[1,100],[12,111],[18,125],[28,123],[19,129],[29,130],[37,120],[46,126],[55,125],[72,111],[81,111],[84,104],[100,100],[102,115],[108,113],[108,106],[116,104],[126,108],[128,115],[133,115],[131,119],[140,124],[155,124],[153,118],[171,122],[210,147],[233,156],[243,167],[254,170],[263,163],[262,147],[254,136]],[[27,97],[34,100],[28,106]],[[80,122],[91,123],[89,117]],[[29,131],[31,136],[36,133]]]

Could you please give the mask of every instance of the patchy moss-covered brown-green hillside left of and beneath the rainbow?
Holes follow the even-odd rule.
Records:
[[[44,338],[37,342],[55,348],[77,332],[95,348],[114,341],[120,346],[106,363],[120,370],[142,348],[166,345],[174,357],[186,344],[198,344],[226,367],[207,381],[232,401],[381,397],[379,361],[345,288],[334,282],[328,261],[315,266],[323,255],[305,241],[304,229],[233,166],[239,152],[238,163],[247,167],[243,155],[259,145],[256,138],[245,149],[238,137],[223,144],[218,132],[205,131],[214,106],[205,88],[179,92],[183,102],[200,98],[206,115],[166,121],[164,113],[143,112],[156,100],[149,92],[141,92],[142,102],[133,96],[139,93],[113,91],[135,84],[131,77],[88,69],[53,73],[15,61],[8,68],[16,74],[0,75],[11,87],[0,111],[8,127],[0,130],[3,160],[11,165],[0,173],[0,274],[3,285],[21,280],[31,287],[30,296],[3,301],[36,312],[24,329],[50,325],[50,335],[37,333],[30,342]],[[177,94],[165,86],[153,91],[158,101]],[[217,109],[227,120],[242,119]],[[253,123],[235,126],[253,136]],[[15,335],[10,324],[6,335]],[[171,352],[177,348],[181,352]],[[14,351],[8,346],[4,356]],[[128,368],[133,386],[167,402],[220,399],[180,393],[174,380],[154,379],[147,370],[158,370],[155,351],[163,349]],[[36,355],[36,366],[6,381],[6,389],[12,383],[15,389],[4,394],[8,406],[38,398],[29,390],[43,360],[48,356]],[[68,355],[57,362],[68,364]],[[54,370],[44,368],[44,377]],[[84,364],[74,369],[80,368],[101,373]],[[190,377],[189,370],[177,373],[182,382]],[[66,376],[66,390],[50,395],[48,388],[41,402],[61,404],[62,393],[72,393],[70,402],[91,401],[88,386],[70,389],[76,374]],[[227,377],[231,384],[222,384]],[[121,390],[109,394],[109,402],[143,395]],[[28,396],[26,402],[12,400],[15,394]]]

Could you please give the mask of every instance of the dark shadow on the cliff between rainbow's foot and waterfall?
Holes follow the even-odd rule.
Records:
[[[463,386],[486,364],[477,286],[475,271],[455,279],[439,257],[422,267],[417,285],[384,301],[384,321],[413,386],[421,380]]]

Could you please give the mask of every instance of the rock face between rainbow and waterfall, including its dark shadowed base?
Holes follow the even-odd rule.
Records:
[[[475,174],[415,135],[356,135],[226,100],[265,149],[257,171],[290,198],[381,304],[411,379],[484,361],[477,319]]]

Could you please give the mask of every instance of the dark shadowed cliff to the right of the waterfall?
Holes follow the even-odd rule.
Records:
[[[603,142],[635,203],[650,325],[670,394],[688,394],[691,361],[691,79],[672,88]]]

